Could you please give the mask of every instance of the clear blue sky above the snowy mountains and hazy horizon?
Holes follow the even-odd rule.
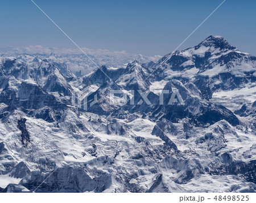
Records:
[[[34,0],[80,47],[143,55],[173,51],[222,0]],[[226,2],[179,49],[224,36],[256,55],[256,1]],[[0,1],[0,47],[75,48],[30,0]]]

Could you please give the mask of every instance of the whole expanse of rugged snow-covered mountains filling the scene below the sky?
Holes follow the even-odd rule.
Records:
[[[79,58],[1,56],[1,192],[256,191],[256,57],[209,36],[85,76]]]

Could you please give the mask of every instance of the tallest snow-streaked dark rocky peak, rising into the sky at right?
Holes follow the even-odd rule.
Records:
[[[255,81],[256,57],[239,51],[220,36],[209,36],[195,47],[164,56],[154,67],[158,68],[155,74],[164,74],[165,81],[191,80],[205,98],[210,98],[214,91],[242,88]]]

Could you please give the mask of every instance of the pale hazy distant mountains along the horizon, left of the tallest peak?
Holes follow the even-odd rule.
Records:
[[[69,69],[76,74],[82,76],[93,72],[97,65],[106,65],[108,67],[123,67],[133,60],[139,60],[141,63],[148,63],[150,61],[158,61],[162,56],[143,56],[141,54],[130,54],[126,51],[109,51],[106,49],[88,49],[82,50],[94,61],[90,60],[88,56],[84,55],[79,49],[75,48],[46,48],[40,45],[15,48],[6,47],[0,48],[1,57],[15,57],[28,62],[34,57],[41,57],[48,61],[55,63],[65,63]],[[97,65],[96,65],[97,64]]]

